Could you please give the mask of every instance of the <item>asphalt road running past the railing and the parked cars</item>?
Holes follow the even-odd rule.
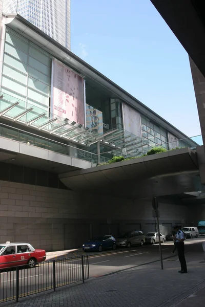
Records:
[[[204,238],[186,240],[186,252],[202,250],[200,243]],[[172,257],[173,242],[162,244],[163,258]],[[101,253],[84,253],[79,251],[79,255],[88,255],[90,278],[112,274],[114,272],[133,268],[158,261],[159,245],[144,245],[142,247],[133,247],[131,249],[120,248],[115,251],[105,251]],[[60,256],[59,258],[62,258]],[[160,262],[158,262],[160,267]],[[57,261],[55,266],[56,287],[64,286],[81,280],[82,277],[80,260]],[[85,277],[87,276],[87,267],[85,266]],[[0,302],[15,299],[16,295],[16,271],[11,269],[0,274]],[[51,261],[43,262],[33,269],[19,270],[19,297],[29,294],[35,294],[42,291],[53,289],[53,264]]]

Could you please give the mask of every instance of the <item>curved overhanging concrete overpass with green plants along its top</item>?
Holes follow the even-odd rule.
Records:
[[[182,148],[59,175],[69,189],[129,199],[203,190],[197,151]],[[198,152],[198,154],[197,154]],[[202,161],[201,161],[202,163]]]

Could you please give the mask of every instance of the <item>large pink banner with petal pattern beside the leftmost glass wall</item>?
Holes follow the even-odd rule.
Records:
[[[54,59],[52,86],[51,113],[84,125],[84,79]]]

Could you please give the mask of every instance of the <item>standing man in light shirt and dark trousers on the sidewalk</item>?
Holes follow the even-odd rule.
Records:
[[[187,263],[185,259],[185,234],[180,230],[180,226],[175,226],[174,230],[176,231],[176,236],[173,237],[174,242],[176,242],[179,261],[181,264],[181,271],[179,273],[187,273]]]

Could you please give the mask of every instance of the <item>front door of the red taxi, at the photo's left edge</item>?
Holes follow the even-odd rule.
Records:
[[[0,268],[12,268],[16,266],[16,246],[10,245],[0,256]]]

